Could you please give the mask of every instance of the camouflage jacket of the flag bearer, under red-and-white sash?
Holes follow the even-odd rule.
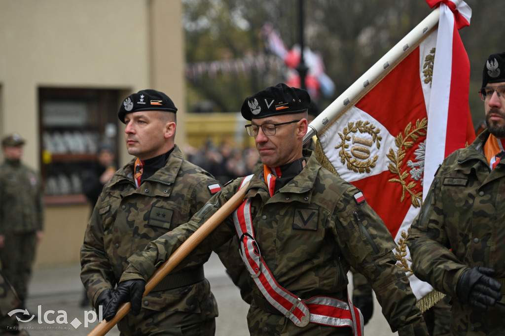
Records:
[[[395,243],[384,223],[366,202],[358,204],[353,197],[357,188],[321,167],[311,153],[304,151],[304,169],[273,197],[262,174],[255,175],[247,187],[256,240],[276,281],[303,299],[328,295],[347,301],[347,272],[352,265],[370,280],[393,330],[401,335],[414,334],[411,331],[416,327],[425,330],[407,276],[396,266]],[[185,237],[235,194],[240,182],[226,185],[186,225],[133,254],[122,279],[148,278]],[[199,251],[207,253],[234,235],[233,219],[228,216]],[[253,295],[255,301],[262,300],[256,286]],[[259,323],[259,330],[268,327]]]

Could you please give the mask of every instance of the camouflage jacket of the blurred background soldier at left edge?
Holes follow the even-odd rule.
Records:
[[[37,174],[19,162],[0,165],[0,234],[42,230],[44,200]]]

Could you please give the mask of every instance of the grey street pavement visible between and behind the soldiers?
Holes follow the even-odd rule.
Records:
[[[91,332],[99,321],[91,307],[80,306],[83,287],[79,272],[78,263],[35,268],[26,302],[30,314],[23,320],[28,320],[32,312],[38,316],[30,322],[20,322],[20,327],[26,329],[31,336],[84,336]],[[216,336],[248,335],[246,323],[248,305],[240,298],[238,289],[226,275],[223,265],[214,253],[205,264],[205,274],[219,306]],[[349,273],[349,278],[350,276],[352,275]],[[351,290],[349,286],[349,292]],[[365,334],[397,335],[391,332],[376,300],[374,315],[365,326]],[[107,335],[119,335],[117,327],[113,327]]]

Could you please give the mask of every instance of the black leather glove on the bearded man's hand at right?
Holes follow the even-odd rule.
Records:
[[[494,269],[483,266],[463,272],[456,286],[458,299],[480,310],[494,306],[501,299],[501,284],[492,278],[494,273]]]

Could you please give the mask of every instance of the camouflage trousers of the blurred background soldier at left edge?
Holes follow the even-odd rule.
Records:
[[[33,232],[6,234],[4,248],[0,250],[2,272],[16,290],[22,304],[28,294],[28,282],[36,248],[37,239]]]

